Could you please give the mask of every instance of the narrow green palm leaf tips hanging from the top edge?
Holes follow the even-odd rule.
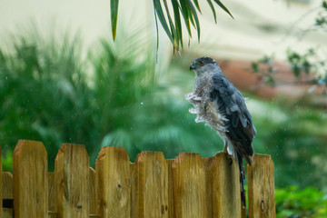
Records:
[[[223,5],[221,1],[219,0],[213,0],[213,1],[217,5],[219,5],[219,7],[223,9],[223,11],[225,11],[228,15],[231,15],[233,17],[231,12],[227,9],[225,5]],[[118,2],[119,0],[111,0],[111,8],[110,8],[114,38],[115,38],[116,25],[117,25]],[[191,31],[191,24],[192,24],[193,27],[197,30],[198,41],[200,42],[201,30],[200,30],[200,22],[199,22],[197,11],[201,14],[201,8],[197,0],[193,0],[193,2],[191,0],[171,0],[170,5],[173,7],[173,17],[171,16],[172,13],[169,9],[170,5],[168,5],[167,0],[163,0],[163,1],[153,0],[153,3],[154,3],[154,18],[155,18],[155,25],[157,30],[157,37],[159,37],[158,22],[157,22],[157,18],[158,18],[160,24],[163,26],[164,32],[166,33],[166,35],[168,36],[169,40],[173,45],[173,49],[176,49],[177,51],[183,49],[183,37],[182,37],[183,30],[182,30],[182,22],[181,22],[181,17],[182,17],[188,35],[192,37],[192,31]],[[212,0],[207,0],[207,3],[213,11],[214,22],[217,23],[216,13]]]

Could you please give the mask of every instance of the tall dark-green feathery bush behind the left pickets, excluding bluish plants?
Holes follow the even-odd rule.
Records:
[[[103,41],[92,63],[82,60],[78,42],[33,33],[15,38],[10,52],[1,49],[0,139],[7,150],[18,139],[40,140],[53,167],[60,144],[87,144],[95,157],[94,145],[105,134],[133,122],[128,108],[140,103],[154,80],[149,47],[140,56],[129,44]]]

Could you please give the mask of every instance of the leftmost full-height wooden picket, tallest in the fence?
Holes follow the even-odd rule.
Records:
[[[47,154],[40,142],[19,140],[13,157],[15,217],[47,217]]]

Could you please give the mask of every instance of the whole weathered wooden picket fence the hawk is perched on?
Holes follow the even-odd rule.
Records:
[[[248,216],[275,217],[271,157],[255,154],[247,176]],[[246,217],[238,167],[227,154],[165,160],[142,152],[130,163],[124,148],[103,147],[94,170],[84,145],[63,144],[48,173],[44,144],[21,140],[13,174],[0,172],[0,183],[0,218]]]

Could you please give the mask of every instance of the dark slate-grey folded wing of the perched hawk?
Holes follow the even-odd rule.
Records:
[[[253,162],[252,142],[256,131],[243,95],[225,76],[214,74],[210,101],[211,104],[217,104],[215,108],[227,119],[225,134],[235,150],[251,164]]]

